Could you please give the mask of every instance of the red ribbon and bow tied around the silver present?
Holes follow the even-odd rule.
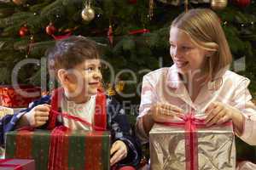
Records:
[[[179,116],[182,119],[180,122],[164,122],[166,126],[182,126],[185,128],[185,154],[186,154],[186,170],[198,169],[198,139],[197,128],[207,127],[205,119],[196,118],[194,114],[189,113],[184,116]],[[221,126],[230,126],[232,122],[225,122]]]

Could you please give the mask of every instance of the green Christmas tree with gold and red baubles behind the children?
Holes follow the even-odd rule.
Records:
[[[45,50],[55,40],[82,35],[95,40],[102,50],[106,82],[125,81],[122,93],[127,95],[121,99],[132,101],[129,105],[138,105],[143,75],[172,65],[168,42],[172,20],[188,8],[212,8],[230,44],[234,57],[231,69],[251,79],[249,88],[255,99],[256,3],[253,0],[227,3],[227,0],[0,0],[0,83],[11,84],[11,77],[17,75],[20,84],[49,90]]]

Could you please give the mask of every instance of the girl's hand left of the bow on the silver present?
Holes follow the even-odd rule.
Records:
[[[151,107],[151,114],[154,122],[168,122],[174,116],[183,113],[183,109],[176,105],[157,103]]]

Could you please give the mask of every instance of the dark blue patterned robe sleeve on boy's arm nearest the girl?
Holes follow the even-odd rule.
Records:
[[[141,160],[141,145],[132,132],[125,111],[113,97],[108,97],[108,129],[111,131],[113,142],[121,140],[127,147],[127,156],[118,162],[118,166],[131,165],[137,167]]]

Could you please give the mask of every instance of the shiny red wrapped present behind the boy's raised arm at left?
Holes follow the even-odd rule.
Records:
[[[5,107],[27,107],[30,102],[40,98],[40,88],[22,85],[20,88],[0,86],[0,105]]]

